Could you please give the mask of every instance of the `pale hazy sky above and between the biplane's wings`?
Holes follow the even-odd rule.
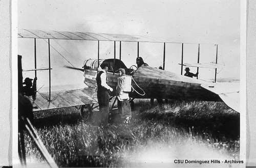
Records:
[[[218,77],[239,78],[240,74],[240,1],[18,1],[18,29],[146,35],[184,43],[184,62],[215,62],[218,44]],[[81,68],[86,59],[97,58],[97,42],[52,40],[53,85],[81,82],[82,73],[65,68]],[[48,66],[48,45],[37,40],[38,67]],[[116,52],[119,53],[119,43]],[[18,54],[23,69],[33,68],[34,40],[18,39]],[[141,43],[140,56],[153,67],[163,65],[163,44]],[[113,42],[100,42],[100,58],[113,58]],[[122,43],[122,61],[135,65],[136,43]],[[118,58],[118,55],[117,55]],[[67,62],[69,60],[70,63]],[[181,44],[166,44],[165,70],[180,73]],[[195,72],[196,68],[190,68]],[[61,72],[61,73],[60,73]],[[214,78],[214,69],[200,69],[202,79]],[[47,71],[38,72],[42,77]],[[75,74],[74,74],[75,73]],[[24,77],[34,73],[24,73]],[[184,74],[184,73],[183,73]],[[64,80],[69,78],[69,80]],[[42,81],[42,80],[41,80]],[[41,82],[41,86],[47,82]]]

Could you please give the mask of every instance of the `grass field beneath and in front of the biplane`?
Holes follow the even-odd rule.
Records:
[[[112,115],[109,125],[99,127],[69,107],[35,112],[34,126],[61,167],[177,167],[182,165],[175,159],[239,159],[240,114],[223,102],[151,106],[137,100],[132,115],[130,124]],[[44,161],[27,134],[26,152],[28,160]]]

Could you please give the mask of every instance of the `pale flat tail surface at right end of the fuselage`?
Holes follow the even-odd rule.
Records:
[[[218,94],[230,108],[240,113],[240,85],[238,82],[202,84],[201,87]]]

